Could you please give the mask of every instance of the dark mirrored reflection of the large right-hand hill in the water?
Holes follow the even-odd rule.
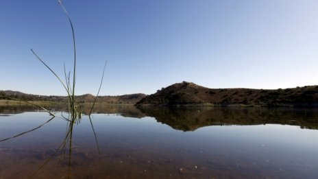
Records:
[[[205,126],[282,124],[318,129],[318,110],[293,108],[140,108],[171,128],[193,131]]]

